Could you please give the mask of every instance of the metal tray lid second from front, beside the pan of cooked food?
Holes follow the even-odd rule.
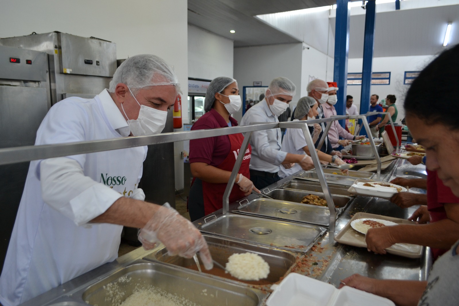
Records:
[[[330,211],[328,207],[295,202],[272,200],[269,198],[256,198],[248,204],[241,205],[235,213],[260,215],[280,220],[316,224],[328,227],[330,224]]]

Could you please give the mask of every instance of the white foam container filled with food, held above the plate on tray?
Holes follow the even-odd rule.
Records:
[[[355,180],[347,191],[356,195],[390,199],[394,194],[407,192],[408,189],[384,181]]]

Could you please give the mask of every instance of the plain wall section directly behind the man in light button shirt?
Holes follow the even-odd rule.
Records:
[[[234,49],[234,78],[239,89],[253,86],[254,81],[262,81],[268,86],[272,79],[283,76],[297,85],[297,95],[293,102],[301,97],[302,84],[302,43],[240,47]],[[242,98],[242,96],[241,96]],[[241,121],[242,110],[234,114]]]

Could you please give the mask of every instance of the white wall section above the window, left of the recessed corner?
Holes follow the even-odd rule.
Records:
[[[188,25],[188,76],[198,79],[233,77],[234,41]]]

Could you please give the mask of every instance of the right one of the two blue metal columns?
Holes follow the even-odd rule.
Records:
[[[369,0],[365,7],[366,14],[364,34],[364,60],[362,65],[362,91],[360,94],[360,113],[368,113],[370,108],[371,73],[373,65],[373,49],[375,45],[375,0]]]

